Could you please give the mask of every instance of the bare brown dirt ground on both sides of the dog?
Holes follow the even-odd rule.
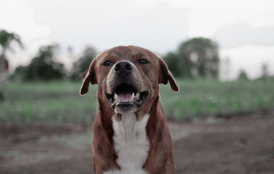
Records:
[[[274,173],[274,115],[169,123],[175,173]],[[1,125],[0,173],[93,173],[91,127]]]

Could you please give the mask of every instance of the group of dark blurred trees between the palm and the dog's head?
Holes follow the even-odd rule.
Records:
[[[73,63],[71,71],[64,68],[64,64],[58,62],[56,53],[58,45],[47,45],[40,47],[37,55],[27,66],[18,66],[12,74],[12,79],[21,81],[47,81],[55,79],[79,80],[80,73],[90,66],[90,62],[96,57],[97,51],[93,47],[86,47]]]

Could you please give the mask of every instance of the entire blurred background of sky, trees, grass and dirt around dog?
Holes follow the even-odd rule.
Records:
[[[144,47],[160,86],[175,173],[274,173],[274,3],[0,0],[0,173],[92,173],[97,86],[79,74],[105,49]]]

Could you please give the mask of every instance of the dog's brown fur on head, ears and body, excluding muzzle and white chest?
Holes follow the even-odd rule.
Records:
[[[148,60],[149,64],[140,66],[138,60],[141,58]],[[82,74],[82,77],[85,77],[85,79],[80,90],[81,95],[85,95],[88,92],[89,83],[98,85],[97,99],[99,111],[93,125],[95,173],[101,174],[103,171],[110,169],[120,169],[116,163],[118,157],[114,151],[114,142],[112,139],[114,130],[111,118],[114,116],[114,119],[119,121],[121,115],[114,113],[114,110],[108,103],[108,99],[105,97],[107,77],[111,69],[111,67],[102,66],[105,60],[112,62],[127,60],[136,65],[136,71],[139,73],[138,78],[140,83],[143,84],[142,87],[145,86],[149,90],[147,101],[136,112],[137,119],[149,113],[149,121],[145,128],[150,142],[150,150],[143,168],[147,173],[174,173],[173,145],[166,124],[164,110],[159,99],[158,84],[167,84],[169,82],[172,90],[178,91],[179,88],[162,59],[147,49],[134,46],[114,47],[113,49],[104,51],[92,61],[89,70]]]

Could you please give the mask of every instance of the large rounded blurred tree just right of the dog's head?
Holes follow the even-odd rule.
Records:
[[[184,78],[217,78],[219,75],[218,45],[208,38],[192,38],[182,42],[175,53],[164,61],[175,76]]]

